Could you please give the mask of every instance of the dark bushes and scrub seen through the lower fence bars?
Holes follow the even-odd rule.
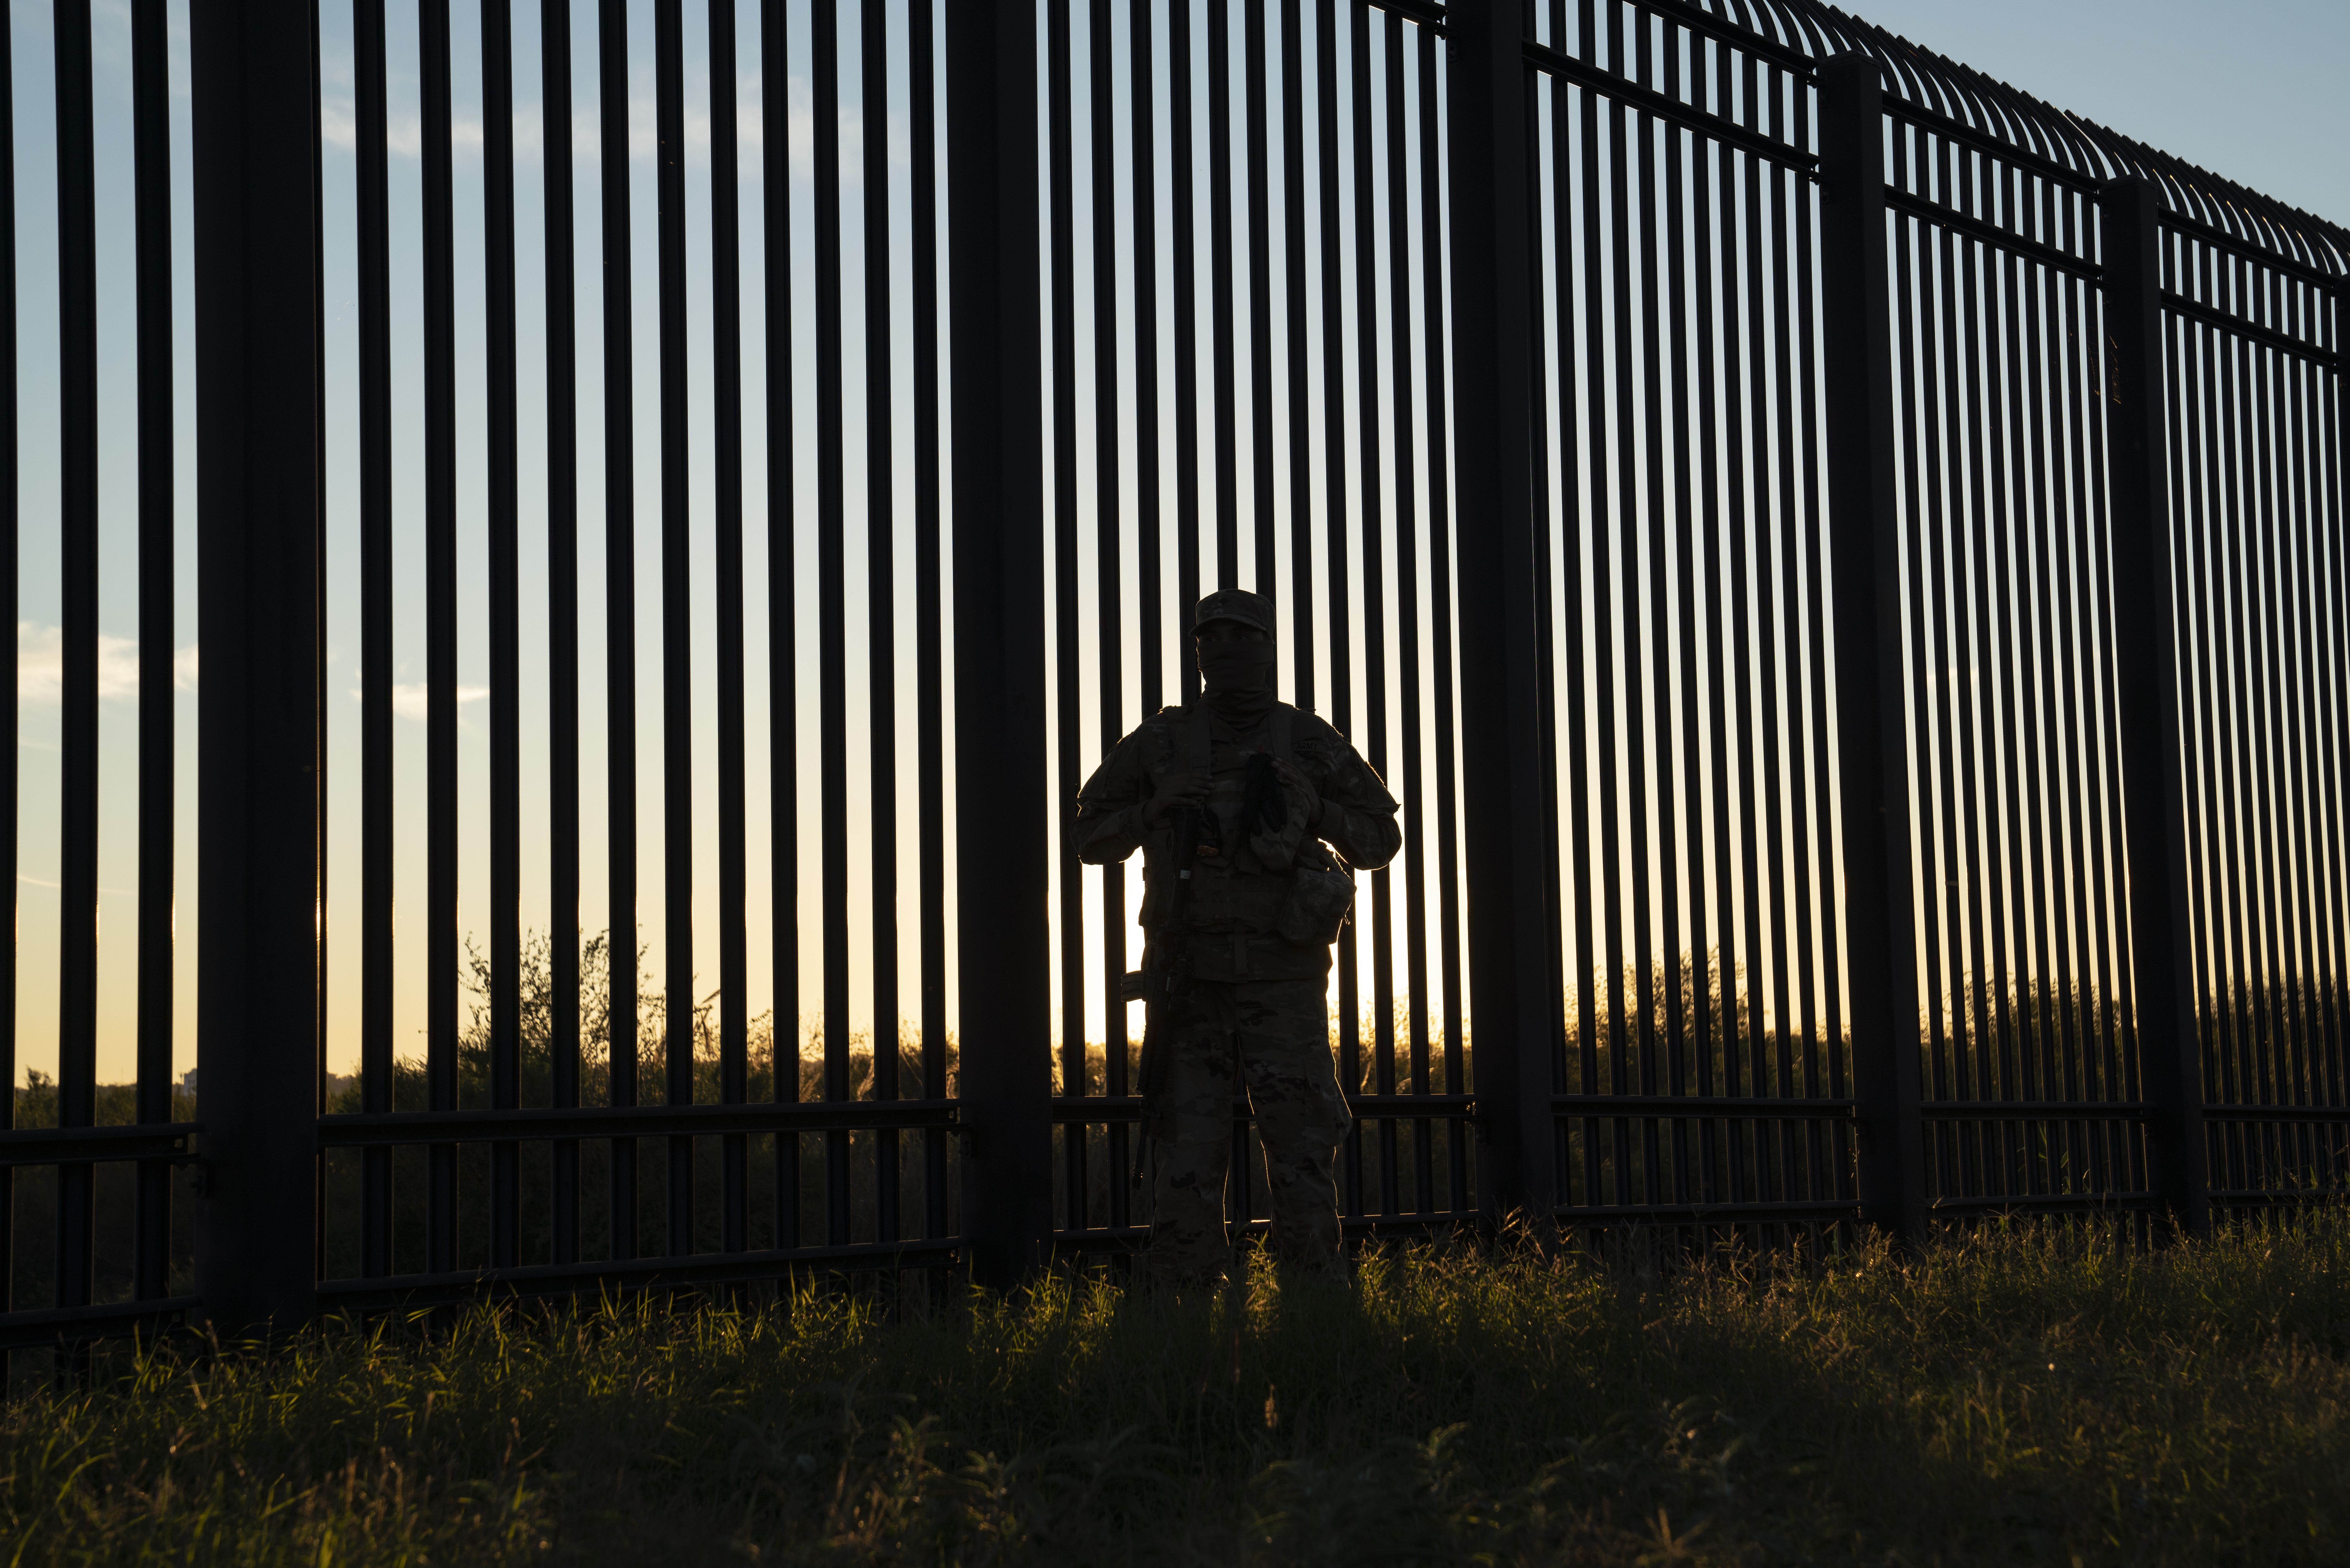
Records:
[[[639,994],[639,1046],[637,1046],[637,1098],[642,1105],[665,1103],[665,1046],[660,1039],[663,997],[660,987],[651,973],[644,971],[642,954],[637,954],[637,994]],[[552,1103],[552,964],[545,936],[531,936],[522,950],[522,964],[517,969],[519,978],[519,1100],[522,1105],[550,1105]],[[1654,964],[1650,969],[1647,985],[1640,985],[1640,976],[1633,966],[1624,966],[1617,983],[1605,985],[1605,976],[1593,976],[1584,987],[1567,990],[1565,1018],[1560,1025],[1560,1051],[1565,1056],[1565,1084],[1567,1088],[1582,1088],[1586,1084],[1584,1072],[1589,1070],[1589,1084],[1600,1091],[1631,1091],[1631,1093],[1727,1093],[1732,1086],[1741,1093],[1852,1093],[1849,1079],[1849,1039],[1838,1025],[1833,1039],[1826,1018],[1788,1018],[1786,1027],[1774,1011],[1762,1009],[1758,1013],[1753,999],[1753,980],[1744,966],[1732,971],[1730,992],[1725,1001],[1725,966],[1718,952],[1708,952],[1704,961],[1692,961],[1683,954],[1676,969]],[[489,1107],[489,959],[468,947],[463,983],[470,997],[470,1011],[465,1027],[458,1037],[456,1048],[456,1081],[458,1081],[458,1105],[468,1110]],[[1678,997],[1678,1020],[1683,1030],[1704,1023],[1704,1037],[1676,1034],[1676,1011],[1664,1004],[1668,997]],[[1589,1011],[1586,1011],[1589,1004]],[[2228,994],[2225,1018],[2247,1018],[2254,1013],[2294,1020],[2294,1018],[2317,1018],[2331,1011],[2331,992],[2303,985],[2258,985],[2237,987]],[[611,945],[606,936],[597,933],[583,943],[580,950],[580,1103],[583,1105],[606,1105],[611,1098],[611,1074],[606,1060],[609,1020],[611,1020]],[[1645,1030],[1643,1030],[1645,1009]],[[1600,1018],[1612,1011],[1614,1025],[1603,1027]],[[1450,1084],[1443,1074],[1445,1053],[1445,1027],[1443,1009],[1434,999],[1417,1009],[1419,1027],[1426,1032],[1424,1051],[1429,1060],[1426,1081],[1412,1077],[1412,1020],[1415,1001],[1408,994],[1394,999],[1389,1018],[1377,1018],[1375,1009],[1358,1009],[1356,1013],[1356,1081],[1358,1091],[1375,1091],[1379,1086],[1379,1041],[1382,1037],[1391,1041],[1394,1048],[1394,1086],[1398,1091],[1445,1091]],[[2120,1056],[2127,1056],[2127,1013],[2124,1009],[2106,997],[2101,990],[2089,985],[2042,985],[2030,978],[2009,976],[2007,985],[1976,983],[1972,976],[1943,999],[1941,1027],[1943,1041],[1948,1030],[1962,1020],[1974,1020],[1974,1034],[1958,1046],[1929,1044],[1925,1079],[1929,1095],[1983,1095],[1995,1093],[1990,1086],[2002,1081],[1986,1077],[1988,1072],[2023,1072],[2023,1081],[2035,1088],[2042,1098],[2063,1098],[2080,1093],[2101,1093],[2106,1098],[2134,1098],[2136,1079],[2122,1070]],[[1384,1030],[1382,1030],[1384,1023]],[[1135,1034],[1140,1037],[1140,1011],[1133,1013]],[[1464,1020],[1466,1025],[1466,1020]],[[2230,1025],[2232,1027],[2232,1025]],[[1340,1020],[1332,1018],[1332,1046],[1340,1044]],[[1589,1030],[1589,1051],[1586,1051]],[[1464,1027],[1466,1034],[1466,1027]],[[790,1030],[792,1048],[785,1056],[785,1072],[797,1074],[799,1098],[820,1100],[825,1095],[825,1070],[822,1070],[822,1037],[820,1027],[811,1018],[801,1018]],[[1932,1037],[1929,1037],[1932,1041]],[[2106,1041],[2117,1041],[2108,1048]],[[1466,1041],[1464,1041],[1466,1044]],[[1140,1039],[1130,1041],[1130,1048],[1140,1046]],[[1676,1056],[1678,1051],[1678,1056]],[[747,1027],[747,1100],[764,1103],[776,1098],[776,1018],[773,1013],[761,1013],[750,1020]],[[1466,1063],[1464,1063],[1466,1065]],[[947,1091],[954,1091],[956,1072],[956,1048],[954,1039],[945,1041],[945,1072]],[[1473,1074],[1464,1088],[1473,1088]],[[874,1056],[872,1034],[858,1030],[848,1041],[848,1086],[855,1098],[872,1093],[874,1079]],[[1060,1079],[1060,1058],[1055,1053],[1055,1086]],[[1090,1093],[1102,1093],[1107,1088],[1107,1056],[1102,1041],[1086,1044],[1086,1079]],[[924,1093],[924,1065],[921,1065],[921,1030],[912,1023],[900,1023],[898,1030],[898,1091],[900,1095],[916,1098]],[[2040,1088],[2044,1086],[2044,1088]],[[2127,1088],[2127,1093],[2122,1093]],[[2265,1091],[2261,1091],[2265,1095]],[[2261,1095],[2256,1095],[2261,1098]],[[717,994],[705,994],[693,1013],[693,1100],[717,1103],[719,1100],[719,1051],[717,1051]],[[392,1070],[392,1105],[395,1110],[425,1110],[430,1105],[425,1088],[425,1063],[421,1053],[404,1053]],[[132,1119],[132,1088],[129,1086],[101,1086],[96,1093],[99,1124],[120,1124]],[[174,1093],[174,1117],[181,1121],[200,1119],[195,1095],[186,1091]],[[357,1079],[336,1079],[334,1093],[329,1095],[329,1110],[355,1112],[360,1110],[360,1086]],[[31,1086],[16,1091],[16,1124],[19,1126],[54,1126],[56,1124],[56,1086],[42,1077],[31,1074]],[[1417,1190],[1417,1150],[1412,1145],[1419,1138],[1419,1126],[1412,1121],[1391,1124],[1394,1128],[1394,1161],[1396,1171],[1396,1206],[1401,1211],[1412,1211],[1422,1204]],[[1055,1133],[1055,1145],[1067,1133]],[[1055,1208],[1060,1225],[1093,1222],[1100,1225],[1109,1215],[1109,1192],[1114,1182],[1128,1180],[1128,1168],[1112,1159],[1112,1145],[1104,1128],[1095,1126],[1086,1135],[1088,1161],[1086,1161],[1086,1190],[1088,1201],[1079,1218],[1072,1218],[1067,1204],[1067,1180],[1069,1166],[1055,1147],[1053,1180],[1055,1180]],[[1354,1161],[1354,1171],[1361,1171],[1365,1182],[1365,1208],[1382,1208],[1379,1201],[1379,1173],[1389,1168],[1386,1147],[1370,1147],[1386,1138],[1379,1126],[1365,1126],[1361,1138],[1365,1150],[1361,1159]],[[1450,1138],[1452,1126],[1445,1121],[1426,1124],[1426,1138],[1431,1143],[1431,1190],[1426,1204],[1434,1208],[1450,1208],[1464,1201],[1473,1201],[1473,1194],[1455,1194],[1450,1182]],[[1666,1159],[1657,1166],[1657,1147],[1671,1157],[1678,1150],[1678,1159],[1685,1171],[1697,1171],[1694,1145],[1654,1145],[1657,1140],[1643,1128],[1643,1124],[1631,1124],[1633,1143],[1617,1150],[1617,1126],[1600,1119],[1596,1126],[1586,1126],[1584,1119],[1572,1119],[1565,1124],[1565,1166],[1563,1182],[1570,1199],[1607,1204],[1607,1201],[1690,1201],[1697,1192],[1694,1175],[1673,1175],[1673,1164]],[[1821,1124],[1810,1124],[1798,1133],[1781,1135],[1781,1143],[1770,1143],[1765,1138],[1748,1138],[1746,1143],[1732,1143],[1723,1124],[1713,1128],[1716,1152],[1713,1171],[1718,1192],[1730,1192],[1730,1171],[1741,1171],[1741,1192],[1748,1197],[1838,1197],[1849,1192],[1849,1140],[1840,1140],[1824,1131]],[[2120,1135],[2120,1128],[2115,1131]],[[1685,1133],[1685,1138],[1694,1138]],[[2016,1147],[1988,1147],[1981,1150],[1960,1147],[1960,1133],[1936,1131],[1936,1143],[1932,1159],[1936,1164],[1936,1180],[1965,1180],[1965,1171],[1981,1168],[1998,1178],[2007,1171],[2007,1180],[2023,1182],[2026,1178],[2037,1180],[2049,1190],[2099,1190],[2103,1185],[2131,1187],[2138,1182],[2131,1166],[2129,1147],[2120,1147],[2117,1154],[2099,1154],[2106,1164],[2094,1164],[2080,1150],[2073,1150],[2063,1140],[2052,1140],[2044,1131],[2023,1133],[2026,1143]],[[2341,1157],[2326,1154],[2326,1150],[2301,1147],[2301,1143],[2277,1143],[2258,1140],[2244,1131],[2228,1131],[2228,1145],[2223,1150],[2230,1161],[2230,1180],[2247,1185],[2326,1185],[2341,1180]],[[1589,1147],[1586,1147],[1589,1140]],[[1807,1143],[1805,1143],[1807,1140]],[[942,1159],[947,1164],[947,1229],[956,1222],[956,1140],[942,1140]],[[2277,1143],[2277,1147],[2270,1147]],[[879,1211],[877,1211],[877,1182],[884,1140],[874,1133],[851,1133],[848,1135],[848,1222],[851,1239],[872,1241],[881,1234]],[[921,1133],[905,1133],[895,1138],[895,1161],[900,1168],[900,1213],[898,1234],[921,1237],[924,1234],[924,1159],[931,1152],[931,1143]],[[1130,1147],[1130,1145],[1128,1145]],[[2134,1147],[2134,1145],[2131,1145]],[[583,1140],[578,1145],[580,1157],[580,1258],[595,1260],[609,1255],[611,1237],[611,1201],[609,1201],[609,1171],[611,1171],[611,1143],[609,1140]],[[1593,1164],[1596,1161],[1596,1164]],[[750,1135],[745,1140],[745,1166],[747,1166],[747,1190],[750,1190],[750,1246],[771,1248],[780,1244],[776,1225],[776,1138],[773,1135]],[[822,1244],[825,1211],[827,1211],[827,1150],[822,1135],[799,1138],[797,1150],[799,1166],[799,1239],[806,1244]],[[1473,1166],[1473,1159],[1471,1159]],[[2108,1168],[2110,1166],[2110,1168]],[[400,1150],[392,1157],[395,1168],[395,1204],[392,1204],[392,1232],[395,1232],[395,1272],[418,1272],[425,1267],[425,1227],[423,1227],[423,1192],[425,1192],[425,1150]],[[667,1251],[667,1143],[658,1138],[646,1138],[637,1143],[637,1237],[639,1255],[658,1255]],[[1349,1166],[1342,1164],[1342,1171]],[[1661,1168],[1661,1175],[1657,1175]],[[693,1215],[696,1234],[693,1251],[717,1251],[721,1246],[721,1161],[719,1140],[698,1140],[696,1164],[693,1164]],[[1596,1171],[1596,1178],[1593,1178]],[[524,1262],[545,1262],[552,1258],[552,1152],[550,1145],[524,1145],[519,1161],[519,1255]],[[125,1300],[129,1295],[132,1279],[132,1168],[129,1166],[99,1166],[99,1234],[96,1234],[96,1300]],[[1652,1192],[1654,1185],[1654,1194]],[[1998,1187],[1995,1187],[1998,1190]],[[12,1305],[16,1307],[47,1307],[52,1298],[52,1269],[54,1269],[54,1171],[42,1166],[24,1168],[14,1175],[14,1246],[9,1258],[9,1284]],[[357,1152],[334,1152],[327,1159],[327,1225],[324,1225],[324,1274],[352,1276],[360,1272],[360,1154]],[[174,1291],[193,1291],[193,1258],[195,1258],[195,1190],[193,1175],[181,1171],[174,1180]],[[458,1152],[458,1262],[461,1267],[479,1267],[489,1262],[489,1147],[486,1145],[461,1145]]]

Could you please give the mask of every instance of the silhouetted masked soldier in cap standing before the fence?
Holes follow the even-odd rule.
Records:
[[[1330,1065],[1330,943],[1354,867],[1386,865],[1396,799],[1347,738],[1274,698],[1274,607],[1227,588],[1194,616],[1206,693],[1119,741],[1076,797],[1076,853],[1142,849],[1149,1276],[1220,1281],[1234,1067],[1264,1145],[1274,1253],[1340,1267],[1330,1175],[1354,1124]],[[1335,851],[1335,853],[1332,853]],[[1187,875],[1189,872],[1189,875]],[[1135,994],[1135,992],[1130,992]]]

